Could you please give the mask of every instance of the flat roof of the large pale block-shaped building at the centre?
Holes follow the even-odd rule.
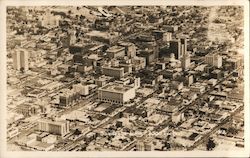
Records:
[[[128,85],[118,84],[118,83],[110,83],[110,84],[105,85],[104,87],[101,87],[100,90],[106,90],[106,91],[111,91],[115,93],[124,93],[130,90],[131,88],[133,87],[128,86]]]

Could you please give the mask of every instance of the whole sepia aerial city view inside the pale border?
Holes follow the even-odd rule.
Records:
[[[8,151],[244,150],[243,6],[8,6]]]

